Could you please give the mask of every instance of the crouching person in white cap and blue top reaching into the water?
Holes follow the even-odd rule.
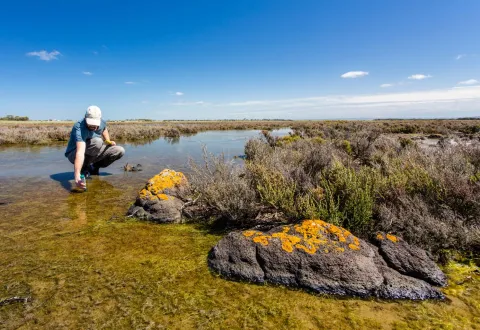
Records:
[[[85,188],[80,174],[98,175],[100,168],[112,164],[125,154],[123,147],[110,141],[106,122],[97,106],[90,106],[85,118],[73,125],[65,157],[73,164],[75,184]]]

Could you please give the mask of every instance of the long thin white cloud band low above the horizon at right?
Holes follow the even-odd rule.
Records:
[[[187,105],[187,104],[178,104]],[[191,105],[191,104],[189,104]],[[473,115],[480,107],[480,86],[408,93],[333,95],[284,100],[209,104],[222,116],[252,118],[386,118]],[[212,111],[212,114],[215,111]],[[293,113],[290,115],[289,113]],[[218,117],[218,114],[217,114]]]

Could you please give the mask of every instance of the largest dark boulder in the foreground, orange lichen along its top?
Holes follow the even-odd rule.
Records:
[[[430,284],[392,269],[378,249],[321,220],[267,232],[232,232],[210,251],[222,276],[300,287],[325,294],[388,299],[442,299]]]

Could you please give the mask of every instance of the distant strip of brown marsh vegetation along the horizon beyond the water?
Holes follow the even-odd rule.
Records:
[[[0,121],[0,145],[5,144],[49,144],[68,141],[73,122],[49,121]],[[349,141],[357,157],[364,155],[358,141],[350,139],[350,132],[363,128],[372,136],[375,134],[462,134],[477,138],[480,120],[374,120],[374,121],[292,121],[292,120],[212,120],[212,121],[111,121],[108,128],[114,140],[128,142],[178,137],[209,130],[272,130],[290,127],[300,136],[337,139],[340,136]],[[358,135],[358,134],[357,134]],[[297,137],[298,136],[298,137]],[[366,141],[366,140],[360,140]],[[286,141],[289,142],[289,141]],[[291,141],[290,141],[291,142]],[[345,146],[347,147],[347,146]]]

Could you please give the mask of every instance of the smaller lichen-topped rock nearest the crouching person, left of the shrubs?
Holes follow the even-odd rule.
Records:
[[[177,196],[187,185],[183,173],[165,169],[147,181],[127,214],[159,223],[180,223],[184,203]]]

